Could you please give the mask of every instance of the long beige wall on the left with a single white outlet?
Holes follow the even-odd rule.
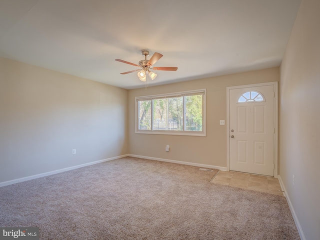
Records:
[[[127,90],[0,58],[0,182],[126,154],[126,133]]]

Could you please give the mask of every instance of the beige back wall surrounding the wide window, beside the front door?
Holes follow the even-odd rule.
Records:
[[[226,87],[278,81],[279,68],[273,67],[224,76],[129,90],[128,153],[226,167]],[[157,78],[160,80],[160,78]],[[134,133],[134,97],[206,88],[206,136],[155,135]],[[165,145],[170,151],[165,151]]]

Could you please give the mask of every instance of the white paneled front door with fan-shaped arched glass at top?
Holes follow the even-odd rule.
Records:
[[[229,89],[230,170],[273,176],[274,85]]]

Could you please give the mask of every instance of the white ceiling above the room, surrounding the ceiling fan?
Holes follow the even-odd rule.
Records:
[[[0,56],[132,89],[279,66],[300,0],[0,0]],[[150,57],[149,56],[149,57]],[[149,58],[148,57],[148,58]]]

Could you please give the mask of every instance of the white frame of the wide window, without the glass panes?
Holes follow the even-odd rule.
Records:
[[[152,100],[156,98],[168,98],[168,97],[178,97],[178,96],[187,96],[193,95],[196,93],[201,93],[202,95],[202,131],[186,131],[186,130],[152,130],[152,122],[153,116],[151,116],[151,129],[150,130],[141,130],[138,129],[138,122],[139,122],[139,114],[138,114],[138,101],[143,100]],[[188,136],[206,136],[206,106],[205,106],[205,89],[196,89],[190,91],[179,91],[179,92],[171,92],[165,94],[156,94],[156,95],[146,95],[146,96],[136,96],[135,97],[135,107],[134,107],[134,114],[135,114],[135,133],[142,133],[142,134],[161,134],[161,135],[188,135]],[[151,102],[152,103],[152,102]],[[151,114],[152,114],[152,106],[151,104]],[[185,115],[185,102],[183,101],[183,115]],[[183,126],[185,124],[185,116],[183,116]]]

